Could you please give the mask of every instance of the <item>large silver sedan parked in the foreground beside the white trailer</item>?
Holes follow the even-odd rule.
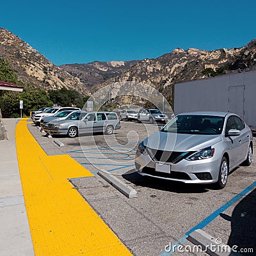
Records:
[[[227,184],[228,173],[252,163],[252,132],[232,113],[177,115],[138,146],[136,171],[184,183]]]

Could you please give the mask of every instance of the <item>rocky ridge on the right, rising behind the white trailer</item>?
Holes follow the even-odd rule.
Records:
[[[232,70],[256,69],[256,41],[244,47],[204,51],[175,49],[156,59],[141,60],[122,75],[109,79],[110,83],[135,81],[149,84],[172,102],[173,84],[210,76],[228,74]]]

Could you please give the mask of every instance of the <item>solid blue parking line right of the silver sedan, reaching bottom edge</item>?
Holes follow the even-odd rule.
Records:
[[[256,181],[253,182],[252,184],[250,184],[250,186],[245,188],[243,191],[241,191],[239,194],[234,196],[232,199],[230,199],[226,204],[222,205],[219,209],[217,209],[216,211],[212,212],[212,214],[210,214],[207,218],[205,218],[200,223],[195,225],[195,227],[191,228],[188,232],[186,232],[186,234],[184,236],[180,237],[180,239],[176,243],[172,244],[172,248],[170,248],[170,252],[164,251],[164,252],[160,253],[159,256],[172,255],[177,250],[177,247],[179,246],[179,244],[186,243],[189,234],[191,234],[196,229],[202,229],[205,226],[207,226],[209,223],[211,223],[212,220],[214,220],[216,217],[218,217],[221,212],[227,210],[228,207],[230,207],[231,205],[236,203],[239,199],[241,199],[243,196],[248,194],[255,187],[256,187]]]

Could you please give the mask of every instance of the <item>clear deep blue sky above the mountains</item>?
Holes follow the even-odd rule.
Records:
[[[241,47],[256,1],[3,1],[0,27],[56,65],[156,58],[177,47]]]

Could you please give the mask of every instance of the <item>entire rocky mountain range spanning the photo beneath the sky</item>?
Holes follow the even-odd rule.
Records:
[[[232,70],[256,69],[256,40],[240,48],[214,51],[178,48],[156,59],[94,61],[56,67],[18,36],[0,28],[0,58],[10,62],[21,81],[45,90],[64,86],[90,95],[111,83],[136,81],[154,86],[172,102],[175,83],[228,74]]]

